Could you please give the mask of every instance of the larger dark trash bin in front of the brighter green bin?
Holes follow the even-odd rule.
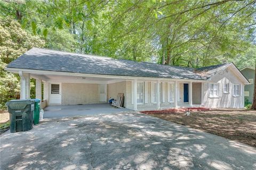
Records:
[[[10,114],[11,133],[29,131],[33,128],[35,102],[27,100],[10,100],[6,103]]]

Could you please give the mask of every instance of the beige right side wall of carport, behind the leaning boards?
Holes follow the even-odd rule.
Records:
[[[126,82],[117,82],[107,84],[107,98],[117,98],[118,93],[124,94],[124,106],[126,106]]]

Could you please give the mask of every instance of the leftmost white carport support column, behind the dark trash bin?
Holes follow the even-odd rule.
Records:
[[[20,75],[20,99],[30,99],[30,74],[19,72]]]

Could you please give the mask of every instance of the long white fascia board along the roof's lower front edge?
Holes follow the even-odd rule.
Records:
[[[206,82],[206,80],[194,80],[194,79],[169,79],[169,78],[133,77],[133,76],[105,75],[105,74],[87,74],[87,73],[73,73],[73,72],[61,72],[61,71],[18,69],[18,68],[12,68],[12,67],[5,67],[5,70],[12,73],[18,73],[19,71],[22,71],[23,73],[30,73],[30,74],[84,76],[84,77],[94,77],[94,78],[123,79],[124,81],[126,79],[129,79],[129,80],[136,79],[136,80]]]

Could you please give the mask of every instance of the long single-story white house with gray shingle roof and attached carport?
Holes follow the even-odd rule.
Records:
[[[106,102],[124,94],[133,110],[169,107],[243,108],[249,84],[233,63],[193,69],[32,48],[5,70],[21,77],[21,99],[29,98],[30,78],[42,105]]]

